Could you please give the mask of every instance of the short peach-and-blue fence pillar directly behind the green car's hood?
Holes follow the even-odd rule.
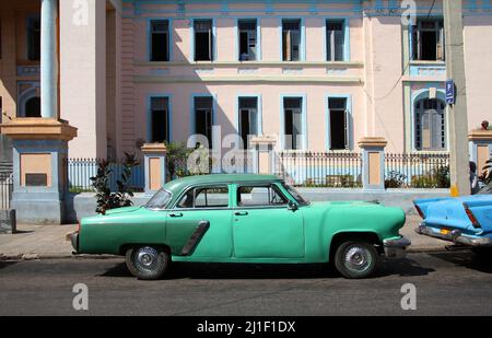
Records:
[[[385,189],[385,148],[388,142],[379,137],[366,137],[359,141],[362,149],[362,184],[367,190]]]

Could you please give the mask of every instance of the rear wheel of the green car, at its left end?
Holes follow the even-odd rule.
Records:
[[[126,253],[128,270],[138,279],[160,279],[166,272],[169,261],[169,255],[154,246],[131,247]]]

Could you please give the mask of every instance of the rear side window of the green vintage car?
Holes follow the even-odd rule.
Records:
[[[201,209],[201,208],[227,208],[229,188],[197,187],[189,189],[176,205],[179,209]]]

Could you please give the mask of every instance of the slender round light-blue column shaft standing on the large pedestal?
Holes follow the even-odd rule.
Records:
[[[58,118],[58,0],[42,0],[40,101],[42,117]]]

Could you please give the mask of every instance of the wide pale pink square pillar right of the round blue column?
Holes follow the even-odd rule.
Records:
[[[71,158],[106,159],[106,1],[72,2],[60,1],[61,118],[80,130]]]

